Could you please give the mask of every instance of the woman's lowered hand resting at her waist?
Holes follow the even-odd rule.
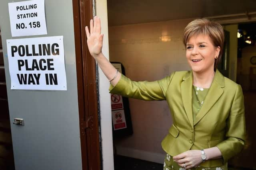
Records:
[[[202,162],[201,154],[201,150],[188,150],[172,158],[180,167],[189,169],[198,166]],[[184,163],[186,167],[184,167]]]

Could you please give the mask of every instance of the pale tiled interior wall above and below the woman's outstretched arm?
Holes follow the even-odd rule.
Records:
[[[182,33],[191,20],[109,27],[110,61],[124,65],[132,80],[158,80],[190,70]],[[163,163],[161,141],[172,125],[166,101],[129,99],[134,134],[114,141],[117,153]]]

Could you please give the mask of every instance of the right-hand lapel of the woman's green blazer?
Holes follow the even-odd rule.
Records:
[[[216,70],[212,85],[204,99],[204,104],[202,105],[200,111],[197,113],[194,125],[198,123],[206,113],[212,108],[212,106],[217,102],[220,96],[223,94],[223,87],[225,86],[224,76]]]

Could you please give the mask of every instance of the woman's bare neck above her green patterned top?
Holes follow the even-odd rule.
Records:
[[[208,72],[193,72],[193,85],[202,88],[210,88],[212,80],[214,78],[214,70],[209,70]]]

